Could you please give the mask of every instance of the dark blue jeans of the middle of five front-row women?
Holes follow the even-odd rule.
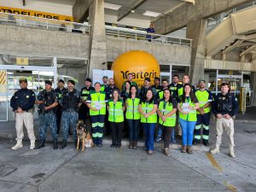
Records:
[[[146,150],[154,150],[154,129],[155,129],[154,123],[143,123],[143,129],[145,133],[145,148]]]

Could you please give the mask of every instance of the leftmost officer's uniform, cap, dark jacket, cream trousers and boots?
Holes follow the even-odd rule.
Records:
[[[26,79],[20,79],[20,83],[25,82]],[[30,139],[30,149],[35,148],[36,137],[34,134],[34,123],[33,123],[33,113],[34,113],[34,104],[35,104],[35,93],[32,90],[20,89],[17,90],[10,100],[10,106],[15,112],[15,128],[16,128],[16,145],[12,149],[22,148],[22,139],[24,137],[23,132],[23,123],[26,126],[26,131]],[[22,110],[18,112],[17,110]]]

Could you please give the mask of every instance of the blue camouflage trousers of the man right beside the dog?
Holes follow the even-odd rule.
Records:
[[[73,139],[78,139],[77,136],[77,123],[79,121],[79,113],[72,111],[63,111],[61,114],[61,124],[63,139],[67,140],[69,127],[73,131]]]

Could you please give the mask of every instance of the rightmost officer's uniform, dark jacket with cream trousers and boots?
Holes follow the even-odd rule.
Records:
[[[227,132],[229,145],[230,145],[230,156],[235,158],[234,154],[234,120],[233,117],[238,113],[238,102],[236,96],[232,93],[227,93],[223,95],[219,93],[215,96],[213,104],[212,104],[212,113],[217,116],[218,113],[229,114],[230,119],[226,119],[224,117],[217,118],[216,122],[216,130],[217,130],[217,139],[216,139],[216,147],[211,151],[212,154],[217,154],[219,152],[219,147],[221,145],[222,134],[224,131]]]

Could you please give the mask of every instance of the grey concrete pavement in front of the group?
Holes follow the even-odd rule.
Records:
[[[14,122],[0,124],[15,136]],[[211,148],[215,143],[211,125]],[[29,142],[13,151],[14,137],[0,136],[0,192],[254,192],[256,189],[256,124],[237,121],[235,125],[236,159],[228,156],[224,134],[221,153],[212,155],[208,148],[194,154],[182,154],[179,146],[170,157],[156,144],[153,155],[141,147],[129,149],[125,142],[119,149],[109,148],[104,137],[102,148],[76,151],[73,143],[63,150],[29,150]],[[5,131],[8,133],[8,131]],[[180,142],[180,141],[179,141]]]

